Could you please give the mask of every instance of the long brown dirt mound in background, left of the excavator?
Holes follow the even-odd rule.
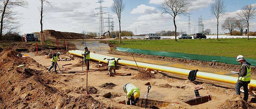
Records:
[[[34,32],[37,36],[40,36],[39,32]],[[55,30],[43,30],[43,33],[47,36],[57,39],[83,39],[83,34],[72,32],[61,32]],[[86,35],[86,38],[93,38],[93,36]]]

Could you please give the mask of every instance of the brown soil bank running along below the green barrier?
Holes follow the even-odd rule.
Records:
[[[109,46],[111,47],[111,44],[109,44]],[[133,54],[134,57],[139,57],[139,58],[163,60],[163,61],[182,63],[187,65],[201,66],[201,67],[216,68],[216,69],[229,70],[229,71],[237,71],[241,67],[240,65],[226,64],[221,62],[213,62],[213,61],[209,62],[209,61],[191,60],[191,59],[184,59],[184,58],[145,55],[145,54],[138,54],[138,53],[120,52],[115,50],[109,51],[109,54],[125,55],[125,56],[131,56],[131,54]],[[256,75],[256,67],[251,66],[251,69],[252,69],[251,73],[253,75]]]

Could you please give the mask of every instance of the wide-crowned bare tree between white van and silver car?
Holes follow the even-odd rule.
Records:
[[[190,8],[192,3],[188,0],[165,0],[158,7],[163,14],[170,14],[173,17],[173,23],[175,27],[175,41],[177,41],[177,26],[175,18],[177,15],[188,15],[192,9]]]

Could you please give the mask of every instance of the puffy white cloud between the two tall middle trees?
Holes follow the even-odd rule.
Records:
[[[137,6],[137,8],[134,8],[131,11],[131,14],[151,14],[151,13],[157,13],[156,8],[151,6],[146,6],[144,4]]]

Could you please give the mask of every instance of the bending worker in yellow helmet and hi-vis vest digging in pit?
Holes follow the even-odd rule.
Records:
[[[133,84],[127,83],[123,87],[126,105],[135,105],[140,97],[140,90]],[[136,99],[135,99],[136,98]],[[134,100],[135,99],[135,100]]]

